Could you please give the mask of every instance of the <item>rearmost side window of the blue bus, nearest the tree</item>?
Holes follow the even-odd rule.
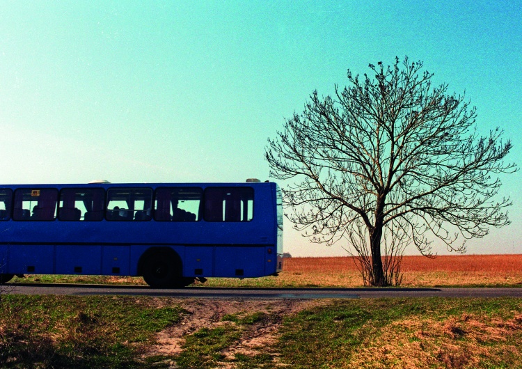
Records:
[[[207,187],[205,221],[251,221],[253,198],[251,187]]]

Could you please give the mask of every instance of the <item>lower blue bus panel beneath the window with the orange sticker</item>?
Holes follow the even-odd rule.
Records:
[[[8,272],[53,274],[54,245],[10,245]]]

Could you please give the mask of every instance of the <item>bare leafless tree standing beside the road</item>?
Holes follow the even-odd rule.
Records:
[[[374,79],[348,70],[333,97],[310,95],[303,113],[269,139],[271,175],[287,217],[313,242],[345,238],[370,285],[400,283],[404,247],[433,256],[432,242],[464,252],[466,240],[509,224],[496,199],[512,148],[501,129],[477,133],[475,107],[448,85],[432,86],[422,62],[370,64]],[[383,253],[384,251],[384,253]]]

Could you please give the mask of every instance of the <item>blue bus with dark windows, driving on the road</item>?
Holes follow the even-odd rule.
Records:
[[[0,185],[0,282],[20,274],[196,278],[277,275],[282,195],[274,182]]]

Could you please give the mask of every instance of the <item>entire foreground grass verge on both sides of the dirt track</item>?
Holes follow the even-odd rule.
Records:
[[[189,317],[171,299],[8,295],[0,309],[1,368],[522,368],[521,299],[329,300],[286,317],[228,314],[166,356],[151,356],[155,333]],[[280,324],[274,339],[235,350],[260,322]]]

